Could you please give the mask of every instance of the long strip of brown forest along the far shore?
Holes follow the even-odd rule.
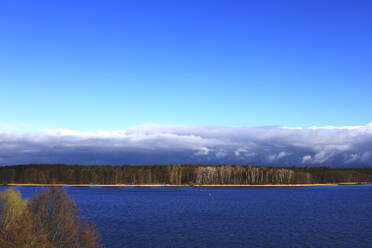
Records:
[[[0,184],[310,184],[372,182],[372,168],[254,167],[241,165],[0,167]]]

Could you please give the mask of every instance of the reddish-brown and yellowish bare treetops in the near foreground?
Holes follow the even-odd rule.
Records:
[[[67,193],[50,187],[30,201],[12,188],[0,192],[0,247],[98,248],[95,226],[82,219]]]

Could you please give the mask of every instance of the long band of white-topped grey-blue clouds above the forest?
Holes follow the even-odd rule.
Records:
[[[23,163],[372,167],[372,123],[307,129],[153,124],[112,132],[0,129],[0,165]]]

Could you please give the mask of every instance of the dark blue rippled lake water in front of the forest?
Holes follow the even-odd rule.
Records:
[[[66,189],[108,248],[372,247],[372,185]]]

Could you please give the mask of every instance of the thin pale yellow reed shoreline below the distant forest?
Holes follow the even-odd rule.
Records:
[[[313,183],[313,184],[37,184],[37,183],[9,183],[2,186],[28,186],[28,187],[313,187],[313,186],[340,186],[363,185],[369,182],[344,183]]]

